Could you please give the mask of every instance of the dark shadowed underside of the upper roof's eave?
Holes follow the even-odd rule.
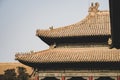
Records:
[[[111,35],[92,35],[92,36],[74,36],[74,37],[44,37],[39,38],[48,45],[59,44],[74,44],[74,43],[105,43],[108,44],[108,39]]]

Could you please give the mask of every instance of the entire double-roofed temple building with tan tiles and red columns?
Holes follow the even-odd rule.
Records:
[[[34,68],[38,80],[120,80],[120,50],[110,47],[109,11],[92,3],[82,21],[36,35],[49,49],[16,54],[16,60]]]

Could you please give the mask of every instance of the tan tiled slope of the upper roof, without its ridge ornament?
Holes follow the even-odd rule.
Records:
[[[43,37],[74,37],[110,35],[109,11],[91,12],[82,21],[51,30],[37,30],[37,36]]]

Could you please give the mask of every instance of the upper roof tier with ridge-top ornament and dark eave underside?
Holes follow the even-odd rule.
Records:
[[[83,39],[99,37],[103,42],[111,36],[110,15],[107,10],[98,10],[99,4],[91,4],[89,14],[81,21],[59,28],[36,31],[36,35],[48,45],[62,43],[85,43]],[[83,40],[83,42],[79,42]],[[87,39],[86,39],[87,40]],[[97,39],[92,40],[92,42]],[[72,41],[72,42],[71,42]],[[91,42],[91,40],[88,40]]]

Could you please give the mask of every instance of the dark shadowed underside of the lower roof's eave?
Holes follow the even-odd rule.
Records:
[[[55,63],[33,63],[19,61],[27,66],[38,70],[120,70],[119,61],[108,62],[55,62]],[[111,66],[112,65],[112,66]]]

